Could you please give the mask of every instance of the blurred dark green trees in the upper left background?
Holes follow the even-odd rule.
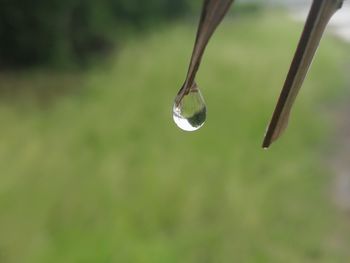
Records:
[[[1,0],[0,66],[84,64],[127,30],[175,18],[190,0]],[[198,1],[197,1],[198,2]]]

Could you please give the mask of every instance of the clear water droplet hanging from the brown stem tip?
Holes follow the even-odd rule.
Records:
[[[207,108],[200,90],[192,88],[180,102],[175,99],[173,119],[184,131],[195,131],[201,128],[207,116]]]

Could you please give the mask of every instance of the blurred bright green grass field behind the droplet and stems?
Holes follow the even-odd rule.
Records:
[[[325,39],[287,133],[260,148],[300,31],[228,19],[198,76],[196,133],[171,118],[195,23],[89,72],[1,73],[0,262],[348,262],[325,160],[344,45]]]

